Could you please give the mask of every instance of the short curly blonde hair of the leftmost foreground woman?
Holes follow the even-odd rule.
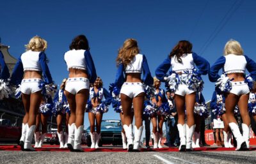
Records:
[[[26,51],[32,50],[36,52],[45,51],[47,48],[47,41],[40,36],[34,36],[29,40],[28,45],[25,45]]]

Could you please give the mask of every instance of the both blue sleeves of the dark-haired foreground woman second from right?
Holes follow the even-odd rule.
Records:
[[[195,52],[192,53],[193,62],[195,63],[197,69],[197,73],[199,75],[206,75],[209,71],[210,64],[203,57],[198,56]],[[164,82],[164,77],[166,77],[166,73],[170,70],[172,66],[172,59],[168,56],[164,59],[163,63],[161,63],[156,69],[156,77]],[[171,69],[172,70],[172,69]]]

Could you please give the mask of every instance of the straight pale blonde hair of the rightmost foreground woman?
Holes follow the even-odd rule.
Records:
[[[224,48],[224,56],[227,56],[228,54],[234,54],[237,56],[243,56],[244,51],[241,47],[240,43],[236,40],[229,40]]]

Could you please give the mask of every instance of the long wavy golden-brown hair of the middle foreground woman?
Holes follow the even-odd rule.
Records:
[[[127,66],[131,63],[134,56],[140,53],[138,43],[136,40],[129,38],[124,41],[123,47],[118,50],[118,56],[116,57],[116,64],[124,64]]]

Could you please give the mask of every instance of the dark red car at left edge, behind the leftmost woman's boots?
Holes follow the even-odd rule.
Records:
[[[0,119],[0,142],[18,143],[21,137],[21,127],[15,126],[10,119]]]

